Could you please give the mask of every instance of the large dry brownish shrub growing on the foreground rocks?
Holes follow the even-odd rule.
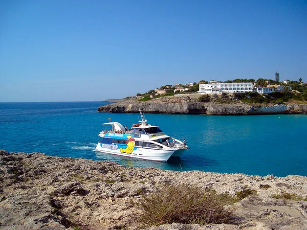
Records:
[[[195,187],[167,186],[158,193],[151,193],[134,203],[141,211],[140,223],[152,226],[184,223],[230,223],[232,212],[214,193]]]

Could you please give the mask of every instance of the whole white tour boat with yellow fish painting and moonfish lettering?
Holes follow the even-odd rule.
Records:
[[[126,129],[118,122],[108,122],[111,129],[99,133],[102,140],[96,151],[120,156],[136,157],[166,162],[169,157],[179,157],[189,147],[182,141],[166,135],[157,125],[149,125],[142,109],[141,121]]]

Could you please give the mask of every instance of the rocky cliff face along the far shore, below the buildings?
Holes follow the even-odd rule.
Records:
[[[252,115],[252,114],[296,114],[307,113],[307,104],[265,104],[249,105],[243,102],[203,103],[188,98],[160,98],[146,102],[135,100],[120,101],[98,108],[100,112],[138,112],[169,114],[207,115]]]

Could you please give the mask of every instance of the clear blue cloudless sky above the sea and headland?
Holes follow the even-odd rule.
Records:
[[[199,80],[307,82],[307,1],[0,1],[0,102]]]

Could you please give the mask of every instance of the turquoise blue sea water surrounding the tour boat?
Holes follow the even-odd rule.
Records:
[[[51,156],[114,160],[127,167],[203,170],[249,175],[307,176],[307,116],[203,116],[145,114],[171,136],[187,140],[181,158],[151,162],[95,151],[102,123],[128,127],[137,113],[101,113],[107,102],[0,103],[0,149]]]

